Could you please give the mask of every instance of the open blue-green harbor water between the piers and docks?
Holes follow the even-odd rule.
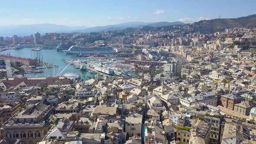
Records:
[[[81,59],[77,57],[76,55],[65,55],[64,52],[57,52],[56,49],[41,49],[39,51],[31,51],[32,48],[23,48],[23,49],[10,49],[3,52],[0,52],[0,54],[10,53],[10,56],[19,56],[19,57],[26,57],[26,58],[32,58],[40,60],[43,59],[43,62],[53,63],[56,65],[59,65],[59,68],[55,68],[55,74],[59,71],[61,72],[62,69],[64,69],[68,64],[65,62],[62,62],[62,59]],[[86,58],[82,58],[86,59]],[[32,77],[32,76],[49,76],[53,75],[54,69],[41,69],[42,73],[36,73],[36,74],[26,74],[25,76]],[[74,72],[81,76],[82,79],[86,79],[86,77],[93,77],[95,74],[92,74],[87,71],[79,71],[78,69],[75,69],[73,65],[69,65],[60,75],[64,75],[69,72]]]

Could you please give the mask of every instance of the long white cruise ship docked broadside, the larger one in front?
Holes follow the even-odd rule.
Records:
[[[110,46],[71,46],[68,50],[64,50],[66,54],[96,54],[96,53],[114,53],[114,49]]]

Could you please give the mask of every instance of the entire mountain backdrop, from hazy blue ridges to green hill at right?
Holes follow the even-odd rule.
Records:
[[[138,31],[138,28],[143,26],[142,29],[148,30],[174,30],[173,25],[185,25],[191,27],[193,30],[191,32],[200,33],[214,33],[218,31],[223,31],[226,28],[235,27],[256,27],[256,14],[243,16],[239,18],[228,18],[228,19],[212,19],[212,20],[201,20],[194,23],[182,23],[182,22],[157,22],[157,23],[147,23],[147,22],[128,22],[120,23],[115,25],[107,26],[62,26],[56,24],[33,24],[33,25],[11,25],[11,26],[0,26],[0,36],[30,36],[36,31],[44,35],[44,33],[53,32],[63,32],[63,33],[84,33],[84,32],[100,32],[100,31],[110,31],[110,30],[124,30],[124,32]]]

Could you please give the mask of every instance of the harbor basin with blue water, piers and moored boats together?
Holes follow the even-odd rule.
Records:
[[[56,49],[46,50],[37,48],[10,49],[0,52],[0,54],[19,56],[24,58],[38,59],[39,65],[30,66],[26,76],[51,76],[54,73],[64,71],[66,73],[76,73],[81,77],[93,77],[101,75],[136,76],[135,69],[121,68],[113,65],[119,63],[123,58],[112,58],[104,54],[90,54],[86,56],[66,55]],[[98,57],[99,56],[99,57]],[[105,57],[102,57],[105,56]],[[66,67],[67,66],[67,67]]]

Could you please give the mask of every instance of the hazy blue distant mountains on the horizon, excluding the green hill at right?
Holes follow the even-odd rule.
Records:
[[[100,32],[109,30],[123,30],[128,27],[140,27],[140,26],[167,26],[167,25],[177,25],[185,24],[182,22],[157,22],[157,23],[146,23],[146,22],[128,22],[120,23],[115,25],[107,26],[63,26],[56,24],[32,24],[32,25],[10,25],[10,26],[0,26],[0,36],[30,36],[35,32],[39,32],[44,35],[44,33],[53,32],[63,32],[63,33],[84,33],[84,32]]]

